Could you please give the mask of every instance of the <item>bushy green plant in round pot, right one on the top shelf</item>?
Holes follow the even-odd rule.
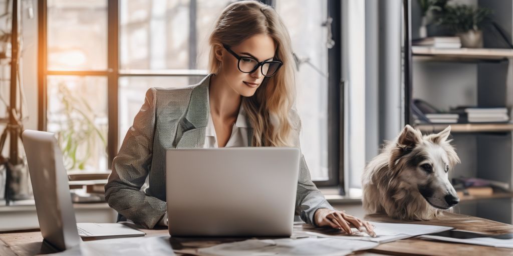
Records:
[[[483,47],[482,26],[488,21],[492,11],[483,7],[467,5],[447,6],[439,23],[448,25],[461,39],[461,46],[466,48]]]

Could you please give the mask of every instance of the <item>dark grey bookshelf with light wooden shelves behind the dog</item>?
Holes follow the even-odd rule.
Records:
[[[407,19],[411,37],[418,39],[421,24],[418,1],[409,6]],[[492,19],[505,30],[511,42],[513,34],[513,0],[461,0],[459,4],[477,5],[494,11]],[[428,36],[437,36],[437,30]],[[432,48],[412,46],[405,41],[405,119],[415,124],[411,113],[412,99],[422,99],[443,111],[456,106],[503,108],[512,118],[513,49],[493,28],[483,29],[484,48]],[[408,79],[409,78],[409,79]],[[415,126],[424,134],[437,133],[451,126],[461,164],[449,173],[453,177],[477,177],[513,185],[513,121],[508,123],[420,123]],[[513,193],[496,192],[489,196],[463,196],[457,205],[461,214],[513,223]]]

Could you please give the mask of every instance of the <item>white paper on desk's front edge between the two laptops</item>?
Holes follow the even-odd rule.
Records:
[[[79,247],[74,247],[62,252],[45,254],[56,256],[103,256],[103,255],[175,255],[169,243],[170,236],[117,238],[97,241],[81,242]]]

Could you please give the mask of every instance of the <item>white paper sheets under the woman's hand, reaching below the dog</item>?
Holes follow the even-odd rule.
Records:
[[[295,231],[298,233],[304,232],[305,234],[315,234],[323,238],[337,238],[347,240],[361,240],[372,241],[378,243],[389,243],[401,239],[420,236],[422,234],[430,234],[442,232],[453,229],[452,227],[434,226],[434,225],[421,225],[421,224],[403,224],[403,223],[384,223],[384,222],[370,222],[374,225],[374,232],[376,237],[370,237],[365,232],[360,232],[356,228],[352,228],[352,234],[347,234],[344,231],[331,230],[329,233],[321,231]]]

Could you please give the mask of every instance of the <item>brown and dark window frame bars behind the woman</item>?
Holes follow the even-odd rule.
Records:
[[[107,1],[107,70],[102,71],[56,71],[48,70],[47,63],[47,0],[37,2],[38,12],[38,130],[47,130],[47,76],[105,76],[107,77],[108,99],[108,133],[107,133],[107,168],[112,166],[112,160],[117,155],[119,147],[119,80],[123,76],[185,76],[203,77],[206,71],[194,70],[194,63],[189,61],[189,70],[122,70],[120,69],[120,0]],[[274,0],[260,1],[275,6]],[[190,0],[191,32],[195,31],[196,0]],[[333,18],[331,23],[333,48],[328,49],[328,177],[327,181],[314,181],[317,186],[338,186],[340,194],[344,195],[343,175],[343,98],[341,93],[341,4],[337,0],[327,0],[328,15]],[[190,33],[190,41],[196,41],[195,33]],[[189,48],[189,55],[195,59],[196,48]]]

